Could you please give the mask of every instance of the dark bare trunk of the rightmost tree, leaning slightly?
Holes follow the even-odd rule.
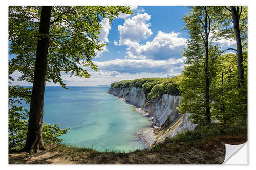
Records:
[[[234,33],[236,34],[236,41],[237,41],[237,53],[238,53],[238,79],[239,84],[244,82],[244,68],[243,68],[243,53],[242,53],[242,42],[240,37],[240,28],[239,28],[239,7],[230,6],[232,18],[233,18],[233,25],[234,25]],[[241,9],[242,10],[242,9]]]

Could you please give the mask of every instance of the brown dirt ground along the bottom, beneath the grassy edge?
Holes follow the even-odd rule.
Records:
[[[9,153],[9,164],[222,164],[226,144],[242,144],[247,136],[224,136],[210,139],[203,145],[178,145],[174,150],[152,150],[132,153],[72,153],[46,151],[30,155],[26,152]]]

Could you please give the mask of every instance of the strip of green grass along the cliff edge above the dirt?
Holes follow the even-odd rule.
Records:
[[[163,142],[153,144],[151,149],[136,149],[133,152],[110,151],[106,149],[104,153],[114,155],[115,157],[125,158],[131,153],[138,153],[143,156],[147,152],[168,152],[179,151],[179,149],[189,146],[202,147],[209,139],[219,136],[247,135],[247,124],[207,124],[199,125],[194,131],[185,131],[177,134],[174,138],[167,137]],[[93,148],[75,147],[72,145],[58,144],[52,151],[59,151],[67,154],[82,153],[95,157],[101,152]]]

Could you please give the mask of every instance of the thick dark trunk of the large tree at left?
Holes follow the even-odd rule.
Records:
[[[42,140],[42,115],[44,111],[44,95],[47,70],[47,54],[49,47],[49,28],[51,6],[42,6],[39,25],[40,40],[37,41],[35,73],[31,94],[27,141],[24,150],[31,153],[45,150]]]

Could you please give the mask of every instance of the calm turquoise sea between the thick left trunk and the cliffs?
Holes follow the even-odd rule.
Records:
[[[150,126],[133,105],[106,93],[109,87],[46,87],[44,121],[71,128],[62,135],[63,143],[108,150],[133,151],[145,148],[135,135]]]

